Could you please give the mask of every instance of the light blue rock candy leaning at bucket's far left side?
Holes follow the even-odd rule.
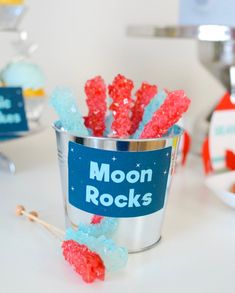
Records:
[[[78,109],[76,97],[70,89],[55,89],[51,95],[50,104],[57,112],[64,129],[73,134],[89,135]]]

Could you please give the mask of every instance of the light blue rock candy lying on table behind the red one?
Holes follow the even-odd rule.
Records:
[[[96,238],[82,231],[74,231],[70,228],[66,230],[65,239],[77,241],[80,244],[86,245],[91,251],[98,253],[108,272],[122,269],[127,264],[127,249],[117,246],[112,239],[107,239],[105,236]]]

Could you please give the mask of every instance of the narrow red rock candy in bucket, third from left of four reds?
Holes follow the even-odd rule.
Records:
[[[150,100],[156,95],[157,86],[150,85],[146,82],[143,82],[140,89],[136,92],[136,101],[132,109],[131,115],[131,130],[130,135],[133,134],[141,122],[144,114],[144,108],[150,102]]]

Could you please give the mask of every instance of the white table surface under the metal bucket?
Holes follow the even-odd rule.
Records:
[[[15,216],[15,206],[23,204],[63,228],[53,130],[0,149],[17,166],[15,175],[0,171],[1,293],[235,292],[235,210],[204,186],[198,158],[177,170],[159,245],[131,255],[127,268],[105,282],[87,285],[64,261],[57,239]]]

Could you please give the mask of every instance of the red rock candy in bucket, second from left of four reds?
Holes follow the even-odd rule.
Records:
[[[134,84],[123,75],[117,75],[109,86],[109,95],[113,99],[110,110],[113,111],[111,129],[116,137],[127,137],[130,134],[130,111],[133,106],[131,91]]]

